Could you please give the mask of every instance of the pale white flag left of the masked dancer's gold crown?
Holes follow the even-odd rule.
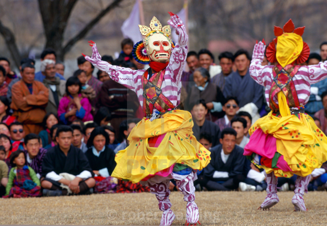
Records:
[[[138,1],[135,1],[135,5],[129,14],[129,17],[124,21],[120,30],[123,33],[124,38],[130,38],[134,44],[142,40],[142,35],[139,29],[140,23],[140,12]]]

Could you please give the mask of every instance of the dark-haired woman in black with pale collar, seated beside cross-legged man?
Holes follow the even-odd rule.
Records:
[[[117,179],[111,177],[116,167],[115,153],[108,147],[109,136],[104,128],[96,127],[87,141],[86,157],[97,180],[94,192],[111,193],[117,185]]]

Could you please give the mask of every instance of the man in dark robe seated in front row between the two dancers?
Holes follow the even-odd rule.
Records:
[[[221,132],[219,145],[210,149],[211,161],[203,169],[204,180],[202,185],[209,191],[230,191],[238,188],[243,182],[243,167],[245,156],[243,149],[236,143],[236,131],[225,128]]]

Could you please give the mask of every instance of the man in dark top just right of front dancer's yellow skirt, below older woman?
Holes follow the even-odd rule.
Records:
[[[198,100],[192,107],[191,114],[194,120],[193,135],[199,140],[200,134],[207,132],[211,135],[212,145],[219,144],[219,127],[205,118],[208,113],[207,105],[203,99]]]

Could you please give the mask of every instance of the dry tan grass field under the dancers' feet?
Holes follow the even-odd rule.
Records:
[[[293,192],[279,192],[270,211],[257,210],[266,192],[196,192],[201,225],[326,225],[327,193],[305,194],[306,212],[293,212]],[[185,224],[186,203],[179,192],[170,200]],[[159,225],[161,211],[153,194],[93,194],[69,197],[1,199],[0,224]]]

